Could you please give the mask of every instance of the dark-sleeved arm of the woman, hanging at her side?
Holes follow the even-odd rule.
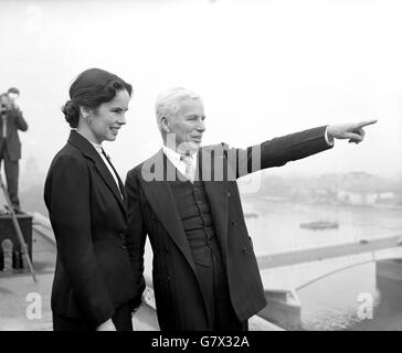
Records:
[[[75,156],[61,156],[47,176],[50,217],[61,263],[83,314],[96,327],[114,314],[114,304],[95,258],[91,233],[89,172]]]

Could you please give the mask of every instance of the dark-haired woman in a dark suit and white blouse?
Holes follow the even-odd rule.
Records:
[[[102,147],[126,124],[130,95],[121,78],[91,68],[74,81],[62,109],[72,130],[44,188],[57,244],[55,331],[133,330],[144,282],[135,279],[127,250],[124,185]]]

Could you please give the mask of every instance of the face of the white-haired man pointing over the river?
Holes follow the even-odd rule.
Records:
[[[195,151],[205,131],[204,107],[200,99],[186,99],[176,116],[169,119],[169,133],[176,135],[178,152]]]

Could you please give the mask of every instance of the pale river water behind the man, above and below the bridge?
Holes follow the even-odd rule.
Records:
[[[266,200],[244,201],[256,255],[329,244],[402,236],[402,211],[375,207],[308,205]],[[311,231],[300,223],[334,221],[338,229]],[[372,318],[359,317],[361,295],[373,302]],[[297,292],[303,330],[402,330],[402,282],[375,277],[375,264],[325,277]],[[360,301],[359,301],[360,300]]]

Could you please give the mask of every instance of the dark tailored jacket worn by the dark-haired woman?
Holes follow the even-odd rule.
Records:
[[[125,201],[98,152],[74,130],[52,161],[44,200],[57,244],[53,312],[98,325],[119,306],[137,306],[144,287],[126,248]]]

